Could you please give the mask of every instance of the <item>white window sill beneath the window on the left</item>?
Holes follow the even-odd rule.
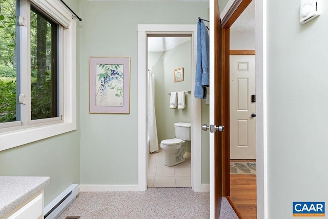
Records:
[[[0,133],[0,151],[76,130],[75,123],[57,123]]]

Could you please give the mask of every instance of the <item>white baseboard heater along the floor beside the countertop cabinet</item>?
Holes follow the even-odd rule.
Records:
[[[66,207],[74,201],[78,194],[78,184],[72,184],[64,192],[61,192],[49,205],[44,209],[45,219],[54,219]]]

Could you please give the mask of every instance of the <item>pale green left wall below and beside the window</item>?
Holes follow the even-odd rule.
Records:
[[[79,13],[79,1],[66,3]],[[77,34],[79,30],[77,28]],[[79,36],[77,36],[79,45]],[[77,53],[79,46],[77,46]],[[77,56],[77,82],[79,57]],[[77,84],[79,90],[79,84]],[[77,105],[79,104],[77,92]],[[45,206],[57,195],[80,178],[80,132],[79,107],[77,107],[77,130],[45,140],[0,151],[0,175],[50,176],[51,183],[45,188]]]

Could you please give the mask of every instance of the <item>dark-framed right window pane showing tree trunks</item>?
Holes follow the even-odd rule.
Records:
[[[57,29],[31,6],[31,120],[60,116],[57,110]]]

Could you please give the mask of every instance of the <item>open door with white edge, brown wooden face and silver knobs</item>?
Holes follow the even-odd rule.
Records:
[[[217,0],[210,0],[210,205],[219,218],[222,199],[222,27]]]

